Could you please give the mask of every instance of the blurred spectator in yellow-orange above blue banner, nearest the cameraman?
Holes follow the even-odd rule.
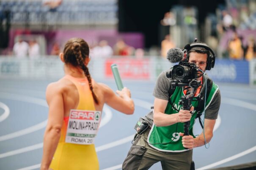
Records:
[[[241,60],[243,59],[242,41],[238,37],[237,32],[234,32],[233,39],[228,43],[228,53],[230,59]]]

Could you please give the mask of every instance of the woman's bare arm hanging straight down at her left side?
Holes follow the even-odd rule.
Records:
[[[44,148],[41,170],[48,170],[53,154],[61,137],[61,127],[64,117],[63,97],[59,86],[48,85],[46,100],[49,106],[48,122],[44,133]]]

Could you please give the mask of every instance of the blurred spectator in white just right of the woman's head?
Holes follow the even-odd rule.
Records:
[[[111,57],[113,56],[113,50],[112,48],[108,45],[106,40],[101,40],[99,42],[99,45],[95,46],[92,49],[91,54],[93,56],[97,57],[102,57],[102,58],[106,58],[106,57]]]

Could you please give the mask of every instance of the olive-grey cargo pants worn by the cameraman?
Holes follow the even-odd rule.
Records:
[[[124,160],[123,170],[148,170],[159,161],[163,170],[190,170],[192,150],[184,152],[158,151],[147,143],[149,131],[150,128],[134,141]]]

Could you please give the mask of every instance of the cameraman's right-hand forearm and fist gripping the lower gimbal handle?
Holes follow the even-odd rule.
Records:
[[[216,120],[210,120],[210,119],[204,119],[204,131],[197,136],[196,138],[193,138],[193,136],[183,136],[183,133],[180,133],[182,137],[182,144],[185,148],[193,149],[195,147],[203,146],[206,143],[209,143],[213,136],[213,128],[215,125]],[[205,140],[204,140],[205,136]]]

